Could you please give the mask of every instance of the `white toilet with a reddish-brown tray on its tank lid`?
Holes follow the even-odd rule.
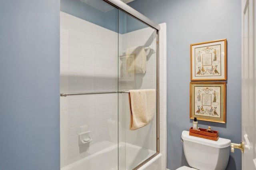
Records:
[[[219,138],[217,141],[190,136],[184,130],[181,135],[183,150],[189,166],[176,170],[225,170],[230,154],[231,140]]]

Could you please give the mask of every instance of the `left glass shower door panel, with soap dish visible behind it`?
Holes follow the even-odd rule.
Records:
[[[118,10],[60,0],[61,170],[118,169]]]

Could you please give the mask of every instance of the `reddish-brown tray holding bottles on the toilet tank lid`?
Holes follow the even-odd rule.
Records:
[[[215,141],[217,141],[219,139],[218,131],[212,130],[213,133],[211,133],[211,132],[207,132],[207,129],[205,129],[205,128],[199,128],[199,130],[194,130],[191,127],[189,129],[189,135],[200,137],[200,138],[205,138],[205,139],[210,139],[210,140],[215,140]]]

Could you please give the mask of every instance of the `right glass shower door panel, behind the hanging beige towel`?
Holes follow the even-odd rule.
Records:
[[[119,91],[156,89],[156,30],[121,10],[118,18]],[[130,130],[128,94],[120,93],[118,103],[118,167],[132,170],[156,154],[156,111],[148,125]]]

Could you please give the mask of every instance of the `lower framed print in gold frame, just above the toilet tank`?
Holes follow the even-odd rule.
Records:
[[[190,119],[226,123],[226,82],[190,82]]]

